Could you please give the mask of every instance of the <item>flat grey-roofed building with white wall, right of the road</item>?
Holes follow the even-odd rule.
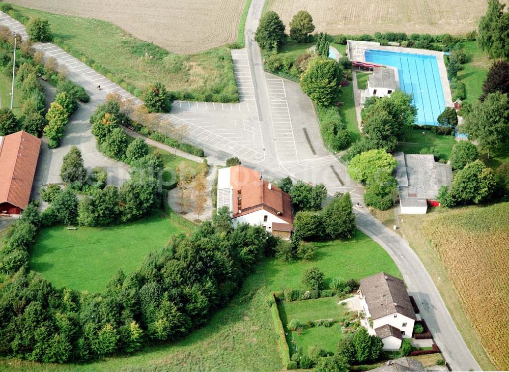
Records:
[[[426,214],[428,204],[438,206],[438,190],[450,186],[453,169],[450,164],[435,161],[431,154],[394,154],[401,214]]]

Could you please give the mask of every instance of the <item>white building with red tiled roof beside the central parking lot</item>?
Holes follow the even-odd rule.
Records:
[[[219,169],[217,209],[227,206],[233,223],[263,225],[274,236],[289,239],[293,230],[290,195],[242,165]]]

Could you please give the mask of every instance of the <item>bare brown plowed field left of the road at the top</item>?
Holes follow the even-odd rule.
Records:
[[[9,0],[9,3],[109,21],[174,53],[194,53],[237,39],[245,0]]]

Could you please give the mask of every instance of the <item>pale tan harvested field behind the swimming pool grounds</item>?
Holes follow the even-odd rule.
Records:
[[[313,17],[316,32],[373,34],[406,32],[465,34],[477,27],[485,0],[267,0],[267,10],[287,25],[302,9]]]

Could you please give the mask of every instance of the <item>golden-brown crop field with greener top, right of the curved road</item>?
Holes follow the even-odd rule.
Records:
[[[509,369],[509,203],[451,211],[422,231],[488,354]]]

